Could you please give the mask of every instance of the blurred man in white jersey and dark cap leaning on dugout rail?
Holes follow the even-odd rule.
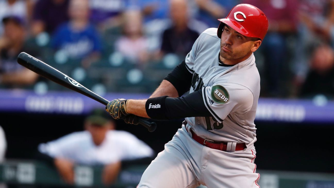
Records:
[[[154,152],[131,133],[114,130],[114,121],[108,116],[104,110],[94,110],[85,120],[85,131],[40,144],[39,155],[53,163],[67,183],[74,181],[75,164],[104,165],[103,182],[114,182],[121,161],[150,159]]]

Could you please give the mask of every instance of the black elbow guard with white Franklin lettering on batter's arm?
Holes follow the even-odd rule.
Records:
[[[165,112],[165,106],[166,106],[165,99],[167,97],[168,96],[161,96],[147,99],[145,103],[145,109],[147,115],[151,119],[159,119],[159,120],[167,119]]]

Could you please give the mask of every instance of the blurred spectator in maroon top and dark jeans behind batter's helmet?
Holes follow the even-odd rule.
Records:
[[[260,8],[268,17],[269,29],[260,49],[265,59],[264,87],[262,94],[269,96],[283,96],[285,63],[288,61],[287,36],[296,32],[297,8],[296,0],[243,0],[243,3],[252,4]],[[264,90],[263,90],[264,89]]]

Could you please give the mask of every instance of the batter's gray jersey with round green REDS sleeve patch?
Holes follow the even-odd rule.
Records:
[[[256,141],[254,124],[260,94],[260,75],[252,54],[232,67],[220,66],[217,29],[205,30],[196,40],[185,62],[193,74],[190,93],[203,89],[203,100],[212,117],[188,117],[194,132],[217,141]]]

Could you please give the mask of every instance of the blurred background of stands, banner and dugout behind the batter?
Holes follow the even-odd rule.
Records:
[[[255,53],[260,186],[334,187],[333,0],[0,0],[0,187],[136,187],[182,122],[150,133],[94,116],[102,104],[23,68],[20,52],[108,100],[147,98],[239,3],[269,19]]]

